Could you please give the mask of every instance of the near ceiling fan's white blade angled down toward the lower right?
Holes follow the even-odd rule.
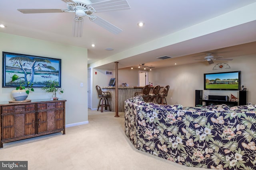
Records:
[[[90,16],[90,20],[114,34],[118,34],[123,31],[122,29],[116,27],[112,23],[109,23],[108,21],[106,21],[98,16]]]

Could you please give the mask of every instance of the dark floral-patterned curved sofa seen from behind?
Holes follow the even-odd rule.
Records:
[[[182,107],[125,101],[134,147],[184,166],[256,170],[256,105]]]

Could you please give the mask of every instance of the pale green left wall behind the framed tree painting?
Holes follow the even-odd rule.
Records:
[[[87,99],[87,49],[0,33],[0,51],[36,55],[62,59],[61,81],[63,94],[58,97],[66,99],[66,124],[88,122]],[[2,77],[2,54],[0,75]],[[80,87],[80,83],[84,87]],[[10,92],[14,88],[0,87],[0,101],[13,100]],[[28,99],[48,99],[52,95],[35,88]]]

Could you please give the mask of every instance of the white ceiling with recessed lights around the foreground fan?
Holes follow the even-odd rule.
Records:
[[[92,3],[100,1],[102,0],[91,0]],[[158,39],[256,3],[256,0],[127,1],[130,4],[130,10],[96,13],[97,16],[121,28],[123,31],[118,35],[84,18],[83,37],[72,37],[73,13],[22,14],[17,11],[20,8],[66,8],[62,0],[1,0],[0,24],[7,27],[0,28],[0,32],[87,48],[88,64],[97,63],[107,57],[114,58],[118,54],[127,52],[124,59],[116,59],[119,62],[119,68],[142,63],[155,67],[170,66],[174,63],[194,63],[198,62],[194,59],[203,59],[207,52],[226,58],[256,53],[254,48],[256,47],[256,16],[253,16],[250,22],[220,29],[204,36],[171,45],[162,45],[162,47],[158,43],[158,47],[148,48],[148,51],[132,53],[132,50],[140,45],[153,41],[159,42]],[[235,20],[236,18],[226,22]],[[143,21],[145,26],[138,27],[139,21]],[[220,25],[210,25],[210,27]],[[92,47],[92,43],[96,46]],[[244,43],[248,44],[230,47]],[[228,48],[220,49],[222,47]],[[113,48],[114,51],[106,51],[106,48]],[[164,55],[174,58],[156,59]],[[97,65],[97,68],[114,69],[112,62],[114,60],[109,61],[102,62]]]

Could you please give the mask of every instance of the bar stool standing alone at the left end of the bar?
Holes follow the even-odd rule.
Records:
[[[109,107],[109,111],[111,111],[110,105],[108,102],[108,98],[111,98],[110,92],[102,92],[100,86],[96,86],[96,90],[98,93],[98,98],[100,98],[97,111],[99,110],[99,107],[101,107],[100,112],[103,112],[103,107],[105,107],[105,110]]]

